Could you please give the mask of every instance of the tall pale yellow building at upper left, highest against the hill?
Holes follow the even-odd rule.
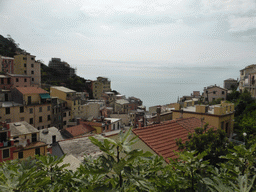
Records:
[[[31,76],[32,86],[41,86],[41,63],[29,53],[14,56],[14,74]]]

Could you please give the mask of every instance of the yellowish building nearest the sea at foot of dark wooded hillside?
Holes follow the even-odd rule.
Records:
[[[92,92],[94,99],[100,99],[102,93],[111,91],[111,81],[105,77],[97,77],[96,81],[93,81]]]

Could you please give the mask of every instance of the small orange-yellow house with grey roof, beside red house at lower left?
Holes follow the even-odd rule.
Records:
[[[47,155],[47,144],[40,141],[39,131],[25,121],[10,123],[11,140],[16,147],[13,159]]]

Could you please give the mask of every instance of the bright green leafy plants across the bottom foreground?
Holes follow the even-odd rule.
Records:
[[[117,140],[90,137],[104,152],[86,157],[76,171],[61,165],[62,158],[37,156],[4,162],[0,167],[0,191],[120,191],[120,192],[253,192],[256,190],[256,144],[228,149],[216,166],[204,160],[208,151],[184,151],[165,164],[162,157],[132,149],[137,138],[131,130]],[[121,155],[122,154],[122,155]]]

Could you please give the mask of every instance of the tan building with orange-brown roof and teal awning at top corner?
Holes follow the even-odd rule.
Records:
[[[52,105],[47,91],[39,87],[16,87],[12,90],[12,98],[20,106],[13,108],[12,112],[9,111],[11,117],[19,116],[38,129],[51,126]]]

